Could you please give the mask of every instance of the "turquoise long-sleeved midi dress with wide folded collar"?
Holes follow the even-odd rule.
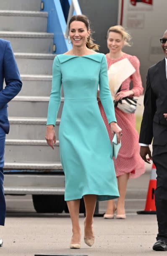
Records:
[[[65,173],[65,200],[97,195],[119,197],[112,147],[97,103],[97,89],[108,123],[116,122],[103,53],[55,57],[47,125],[55,125],[64,90],[59,128],[60,160]]]

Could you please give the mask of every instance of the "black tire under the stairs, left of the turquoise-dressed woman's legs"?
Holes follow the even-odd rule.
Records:
[[[64,195],[32,195],[37,213],[62,213],[65,208]]]

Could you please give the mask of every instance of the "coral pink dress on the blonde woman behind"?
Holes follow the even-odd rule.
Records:
[[[124,53],[119,59],[112,60],[107,55],[108,69],[112,64],[121,59],[127,58],[136,72],[128,77],[123,83],[121,88],[125,91],[130,90],[130,82],[133,82],[134,96],[138,97],[143,93],[143,87],[141,82],[141,75],[139,71],[140,62],[136,56],[131,56]],[[107,123],[107,118],[104,113],[101,102],[99,101],[99,109],[103,117],[104,123],[107,127],[109,133],[110,141],[112,142],[112,135],[110,131],[110,125]],[[121,176],[125,173],[129,173],[129,178],[137,178],[145,172],[145,163],[142,160],[139,151],[140,146],[138,144],[138,132],[136,131],[136,118],[135,114],[127,114],[117,107],[115,107],[115,115],[117,119],[117,124],[122,128],[123,136],[121,137],[122,146],[120,148],[117,159],[114,159],[116,176]]]

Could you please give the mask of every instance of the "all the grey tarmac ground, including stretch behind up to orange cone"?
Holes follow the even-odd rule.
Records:
[[[138,215],[145,207],[149,184],[149,169],[138,179],[128,183],[126,198],[127,219],[94,218],[95,243],[90,248],[84,243],[83,222],[80,215],[81,250],[69,249],[71,223],[68,214],[38,214],[34,211],[31,195],[6,196],[7,218],[0,227],[4,240],[2,256],[88,255],[88,256],[162,256],[167,252],[154,252],[152,245],[157,235],[155,215]],[[99,204],[105,211],[106,202]]]

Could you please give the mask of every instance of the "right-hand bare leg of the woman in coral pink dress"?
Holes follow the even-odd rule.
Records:
[[[122,215],[125,214],[125,196],[126,196],[126,188],[129,179],[129,173],[125,173],[117,177],[118,179],[118,190],[120,193],[120,197],[117,200],[117,214]]]

